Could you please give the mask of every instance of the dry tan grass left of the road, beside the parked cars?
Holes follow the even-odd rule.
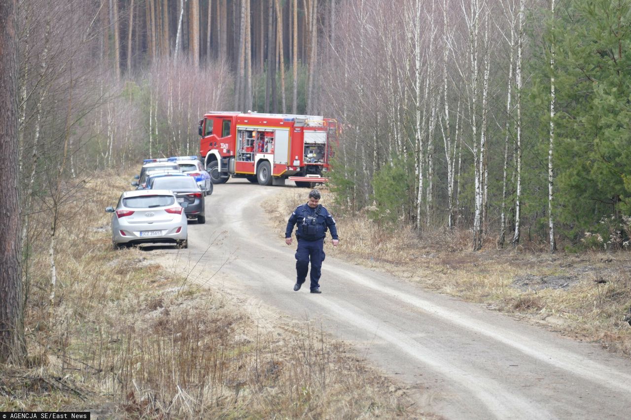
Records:
[[[109,214],[128,177],[78,190],[57,242],[28,265],[27,366],[0,365],[0,411],[90,410],[105,418],[419,417],[404,390],[317,327],[254,324],[240,306],[111,247]],[[33,231],[47,223],[33,219]],[[44,230],[42,230],[43,232]]]

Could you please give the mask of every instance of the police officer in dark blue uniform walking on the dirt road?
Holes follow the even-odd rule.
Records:
[[[311,261],[311,293],[322,293],[318,283],[321,276],[322,261],[324,261],[324,236],[327,229],[331,230],[333,246],[339,243],[338,229],[335,226],[333,216],[327,211],[320,201],[320,192],[312,190],[309,192],[309,201],[296,207],[287,221],[285,230],[285,243],[292,245],[293,226],[296,228],[296,238],[298,239],[298,249],[296,250],[296,284],[293,285],[295,291],[300,290],[302,283],[307,279],[309,271],[309,260]]]

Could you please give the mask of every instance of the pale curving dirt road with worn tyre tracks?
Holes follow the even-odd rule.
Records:
[[[189,281],[240,296],[261,324],[276,313],[350,342],[403,383],[425,412],[447,419],[631,416],[631,363],[596,344],[430,293],[334,252],[322,266],[321,295],[293,291],[295,242],[288,247],[261,223],[261,202],[282,188],[245,180],[216,185],[206,198],[206,224],[189,224],[189,248],[151,258]],[[340,237],[352,240],[348,232]]]

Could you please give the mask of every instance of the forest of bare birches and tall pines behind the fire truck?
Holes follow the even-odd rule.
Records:
[[[343,127],[350,211],[474,249],[625,248],[630,3],[22,0],[22,192],[197,153],[208,110],[307,113]]]

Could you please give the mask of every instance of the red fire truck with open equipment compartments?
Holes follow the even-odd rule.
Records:
[[[234,177],[310,187],[328,180],[337,134],[336,120],[314,115],[209,112],[199,120],[199,151],[213,184]]]

